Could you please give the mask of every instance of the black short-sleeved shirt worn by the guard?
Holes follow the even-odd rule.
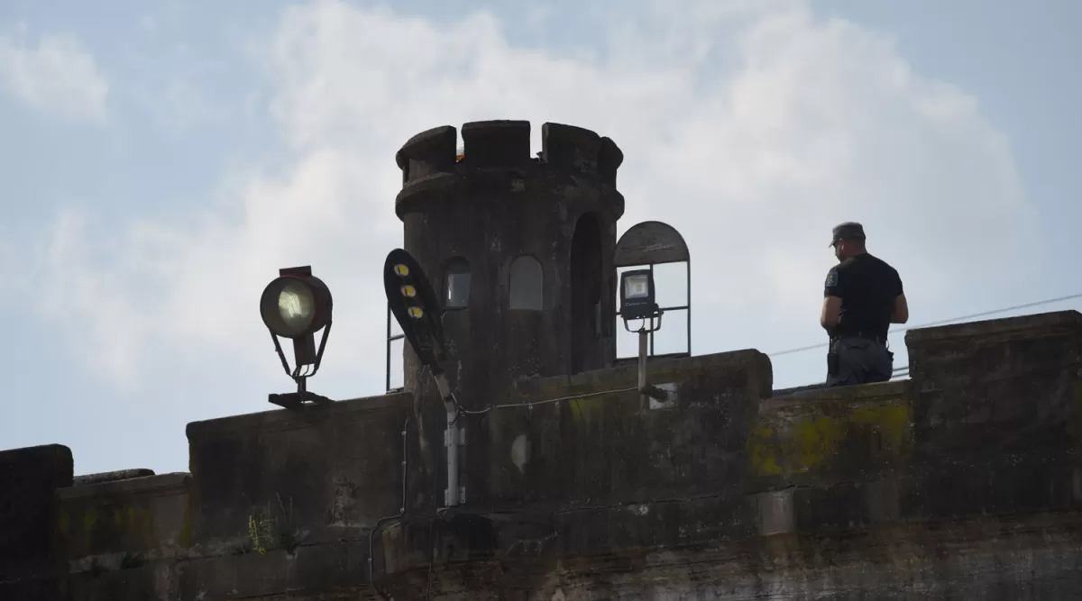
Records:
[[[830,337],[863,336],[886,340],[894,299],[901,292],[898,271],[868,253],[835,265],[827,273],[823,296],[841,298],[842,312]]]

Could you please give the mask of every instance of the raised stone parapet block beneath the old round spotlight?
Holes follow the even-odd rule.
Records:
[[[364,534],[401,507],[412,410],[412,396],[397,393],[188,424],[195,543],[247,544],[253,523],[267,548]],[[412,473],[418,494],[424,471]]]

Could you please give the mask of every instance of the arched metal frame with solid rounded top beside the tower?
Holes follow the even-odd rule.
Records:
[[[642,222],[631,226],[623,232],[616,243],[616,253],[612,257],[613,269],[623,267],[649,267],[654,271],[656,265],[667,265],[670,263],[686,264],[687,273],[687,295],[685,304],[673,307],[661,307],[662,311],[687,311],[687,350],[685,352],[672,352],[662,357],[690,357],[691,356],[691,254],[688,252],[687,242],[676,228],[663,222]],[[620,311],[616,312],[620,318]],[[649,357],[657,357],[654,353],[654,332],[650,332]],[[634,359],[634,357],[617,357],[616,361]]]

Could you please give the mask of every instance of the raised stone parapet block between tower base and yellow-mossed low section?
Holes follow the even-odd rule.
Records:
[[[642,503],[738,486],[769,360],[747,350],[657,361],[649,382],[676,389],[663,410],[649,409],[637,377],[629,366],[519,380],[512,406],[488,419],[488,505]]]

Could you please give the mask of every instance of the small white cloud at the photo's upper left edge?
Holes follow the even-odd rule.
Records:
[[[48,35],[35,45],[19,35],[0,36],[0,90],[39,110],[101,120],[109,84],[75,38]]]

